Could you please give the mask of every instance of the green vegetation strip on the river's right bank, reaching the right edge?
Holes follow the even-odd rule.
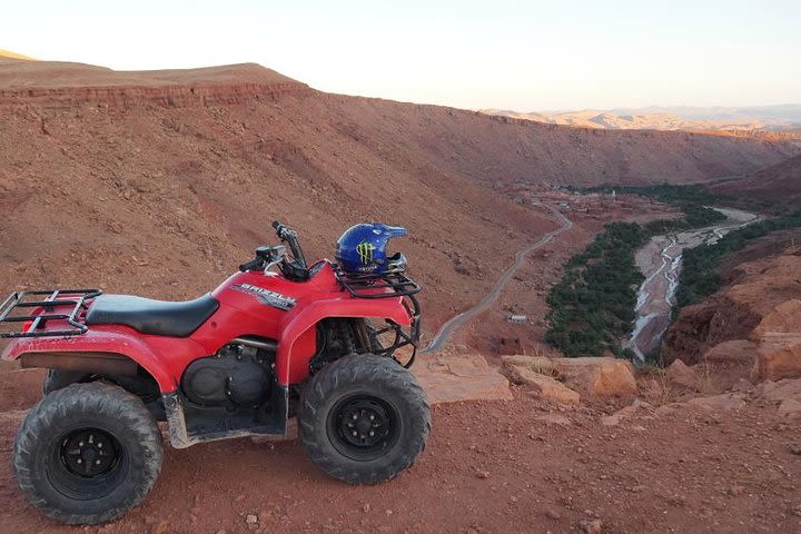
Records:
[[[771,231],[801,227],[801,210],[787,217],[762,220],[726,234],[714,245],[699,245],[683,253],[682,271],[676,290],[676,306],[689,306],[720,289],[718,267],[732,253],[742,249],[749,240]]]

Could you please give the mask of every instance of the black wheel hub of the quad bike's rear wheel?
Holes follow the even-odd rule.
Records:
[[[73,475],[91,478],[113,468],[119,459],[117,439],[98,428],[75,431],[65,437],[61,462]]]

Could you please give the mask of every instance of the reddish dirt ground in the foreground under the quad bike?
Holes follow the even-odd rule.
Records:
[[[38,384],[22,382],[24,390],[7,388],[4,398],[36,397]],[[435,406],[417,464],[372,487],[326,477],[297,441],[166,447],[146,502],[99,527],[40,515],[7,461],[2,532],[557,533],[585,532],[594,520],[607,533],[801,532],[801,428],[774,408],[644,409],[606,427],[600,417],[612,406],[567,409],[513,393],[511,402]],[[0,415],[4,458],[23,415]],[[248,515],[258,522],[249,525]]]

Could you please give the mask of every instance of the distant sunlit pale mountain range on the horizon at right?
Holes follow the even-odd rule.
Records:
[[[635,130],[792,130],[801,132],[801,105],[726,107],[657,107],[518,112],[482,109],[484,113],[552,125]]]

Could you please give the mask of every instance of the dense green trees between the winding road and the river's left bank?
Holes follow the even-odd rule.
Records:
[[[629,357],[620,339],[633,327],[637,287],[643,276],[634,253],[655,235],[711,226],[725,219],[704,204],[714,197],[700,186],[601,187],[582,192],[636,194],[653,197],[681,209],[681,219],[664,219],[644,226],[612,222],[605,231],[564,266],[564,276],[547,297],[551,328],[545,340],[565,356],[601,356],[605,350]]]

